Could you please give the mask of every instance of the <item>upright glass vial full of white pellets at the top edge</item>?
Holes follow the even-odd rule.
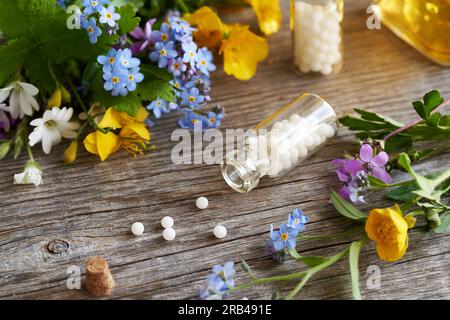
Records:
[[[343,0],[291,0],[294,64],[301,73],[336,74],[343,65]]]

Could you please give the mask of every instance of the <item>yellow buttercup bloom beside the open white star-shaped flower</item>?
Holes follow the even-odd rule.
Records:
[[[86,150],[98,155],[102,161],[121,147],[133,155],[142,154],[150,143],[150,133],[144,124],[147,116],[148,111],[143,107],[134,117],[109,108],[98,126],[102,129],[120,129],[120,132],[115,134],[112,131],[103,133],[96,130],[90,133],[83,141]]]

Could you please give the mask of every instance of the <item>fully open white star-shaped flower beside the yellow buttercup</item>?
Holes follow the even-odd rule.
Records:
[[[28,137],[30,146],[42,141],[42,150],[49,154],[52,146],[60,143],[61,138],[75,139],[79,124],[69,122],[72,115],[72,108],[53,107],[52,110],[46,110],[42,118],[31,121],[30,125],[36,128]]]

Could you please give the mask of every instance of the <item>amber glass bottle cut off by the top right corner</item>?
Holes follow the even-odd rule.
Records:
[[[450,0],[375,0],[381,21],[439,64],[450,66]]]

